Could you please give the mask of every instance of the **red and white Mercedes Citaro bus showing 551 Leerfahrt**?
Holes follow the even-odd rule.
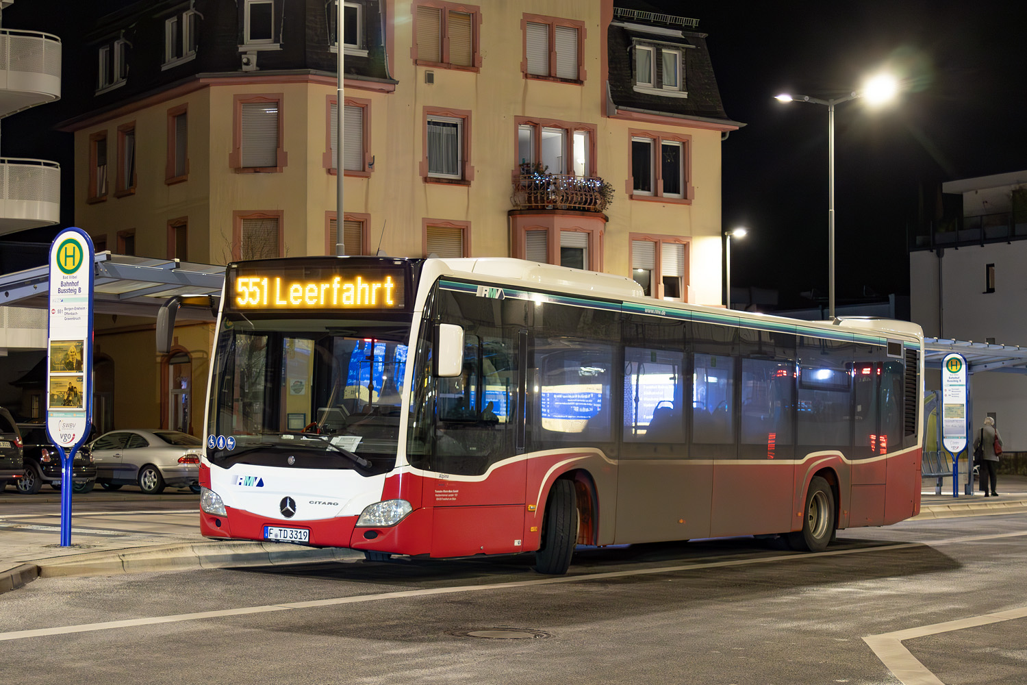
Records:
[[[835,530],[920,507],[922,333],[514,259],[228,266],[203,535],[432,558]]]

